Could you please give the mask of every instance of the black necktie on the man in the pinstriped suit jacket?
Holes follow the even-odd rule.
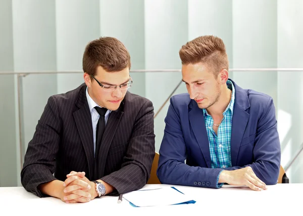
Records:
[[[97,123],[96,128],[96,143],[95,143],[95,157],[94,157],[94,179],[98,180],[98,154],[101,146],[102,136],[105,130],[105,113],[107,112],[106,108],[94,107],[95,110],[99,113],[100,117]]]

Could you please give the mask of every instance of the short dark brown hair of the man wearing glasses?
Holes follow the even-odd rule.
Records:
[[[83,60],[83,71],[95,75],[97,66],[108,72],[130,69],[130,55],[120,40],[114,37],[100,37],[86,46]]]

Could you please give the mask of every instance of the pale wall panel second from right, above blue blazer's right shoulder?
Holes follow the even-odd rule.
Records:
[[[233,67],[277,67],[277,2],[233,0]],[[277,104],[277,72],[234,72],[234,81],[273,97]]]

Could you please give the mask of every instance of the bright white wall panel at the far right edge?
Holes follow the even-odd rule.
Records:
[[[278,1],[278,67],[303,68],[303,2]],[[303,143],[303,72],[278,73],[278,129],[282,165],[286,165]],[[303,182],[303,153],[286,171],[291,183]]]

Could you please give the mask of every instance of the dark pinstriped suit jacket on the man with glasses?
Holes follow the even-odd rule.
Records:
[[[70,171],[93,176],[93,133],[85,95],[86,85],[48,99],[29,142],[21,170],[23,187],[39,197],[37,187],[66,180]],[[113,195],[143,187],[155,156],[154,107],[138,95],[126,93],[107,121],[99,151],[99,179],[116,188]],[[54,175],[53,175],[54,174]]]

